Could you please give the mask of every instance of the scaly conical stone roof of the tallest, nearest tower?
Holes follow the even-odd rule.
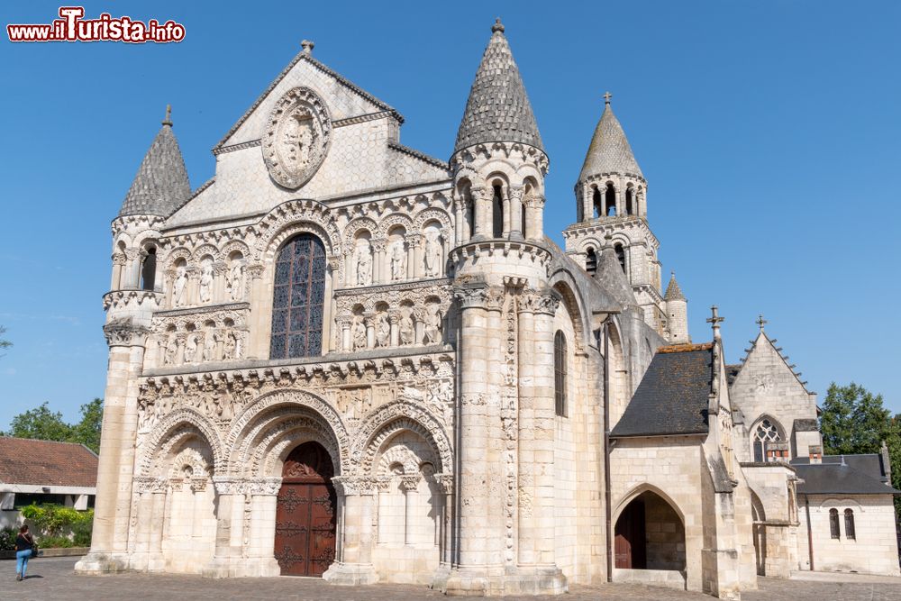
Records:
[[[544,150],[500,19],[491,28],[491,40],[469,90],[454,151],[492,141],[522,142]]]

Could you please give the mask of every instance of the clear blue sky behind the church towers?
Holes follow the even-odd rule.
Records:
[[[4,33],[0,324],[15,346],[0,359],[0,428],[45,400],[74,420],[103,396],[109,223],[167,103],[198,187],[210,149],[309,38],[405,115],[405,144],[447,159],[498,14],[551,157],[551,235],[575,218],[572,187],[610,90],[693,338],[710,338],[719,305],[737,361],[762,312],[821,400],[829,382],[854,380],[901,412],[901,5],[330,6],[85,4],[89,17],[186,26],[185,41],[156,46],[14,45]],[[50,23],[58,7],[4,3],[0,17]]]

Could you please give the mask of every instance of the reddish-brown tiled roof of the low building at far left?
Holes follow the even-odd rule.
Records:
[[[97,456],[73,442],[0,436],[0,485],[96,487]]]

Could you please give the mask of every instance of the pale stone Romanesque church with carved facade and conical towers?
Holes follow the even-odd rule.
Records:
[[[560,248],[544,211],[572,201],[545,197],[499,20],[449,160],[403,145],[403,116],[313,48],[194,190],[167,111],[113,220],[77,570],[726,598],[758,574],[898,573],[887,461],[822,457],[815,396],[762,318],[741,365],[715,308],[689,339],[609,95]]]

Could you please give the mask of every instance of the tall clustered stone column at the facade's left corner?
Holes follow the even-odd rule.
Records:
[[[118,318],[104,326],[110,347],[104,394],[103,436],[91,551],[76,564],[85,573],[126,569],[132,513],[132,470],[138,427],[138,377],[148,329]]]

